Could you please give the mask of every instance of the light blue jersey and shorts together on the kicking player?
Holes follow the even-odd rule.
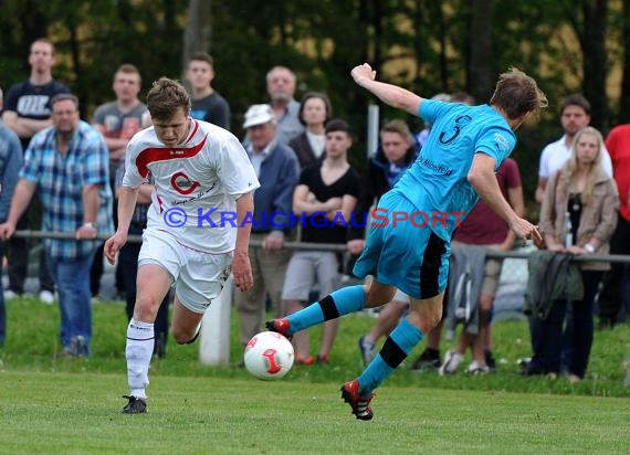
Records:
[[[494,158],[496,171],[516,137],[487,105],[426,99],[419,115],[432,125],[429,139],[372,212],[354,274],[422,299],[444,292],[452,233],[479,200],[468,181],[474,154]]]

